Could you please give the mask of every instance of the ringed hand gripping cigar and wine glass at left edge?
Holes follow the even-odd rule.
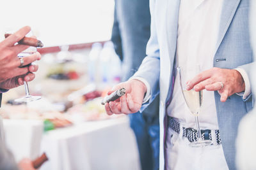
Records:
[[[23,85],[23,80],[31,81],[35,78],[33,72],[38,70],[38,66],[20,66],[26,66],[35,60],[40,60],[40,53],[36,52],[23,57],[22,61],[17,57],[20,52],[29,47],[29,45],[19,43],[29,31],[31,31],[29,26],[22,27],[19,31],[10,34],[0,43],[0,89],[12,89]]]

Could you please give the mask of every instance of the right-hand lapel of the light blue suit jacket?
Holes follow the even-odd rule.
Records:
[[[222,7],[221,19],[220,19],[220,31],[219,31],[215,53],[217,52],[221,44],[221,41],[225,37],[225,34],[232,22],[232,19],[236,13],[236,10],[240,1],[241,0],[224,0],[223,1],[223,7]]]

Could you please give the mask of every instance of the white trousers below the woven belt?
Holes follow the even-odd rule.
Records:
[[[178,134],[168,128],[164,148],[166,170],[228,169],[222,145],[193,148],[181,132]]]

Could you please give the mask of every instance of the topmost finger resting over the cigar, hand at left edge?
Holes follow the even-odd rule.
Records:
[[[24,38],[28,32],[31,31],[29,26],[22,27],[19,31],[15,32],[14,34],[8,36],[8,38],[4,39],[3,45],[5,46],[13,46],[15,43],[20,41],[20,39]]]

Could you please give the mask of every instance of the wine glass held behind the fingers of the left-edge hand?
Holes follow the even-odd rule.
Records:
[[[32,35],[33,35],[32,31],[30,31],[26,36],[32,36]],[[23,52],[19,53],[17,55],[17,57],[19,57],[19,58],[26,57],[26,56],[32,55],[36,51],[37,51],[36,47],[29,46],[29,48],[27,48]],[[23,66],[23,67],[28,67],[28,65],[27,66]],[[28,102],[31,102],[31,101],[37,101],[37,100],[41,99],[41,96],[31,96],[29,94],[28,82],[27,81],[24,81],[24,86],[25,86],[26,96],[21,97],[19,99],[15,99],[14,100],[15,102],[17,102],[17,103],[28,103]]]

